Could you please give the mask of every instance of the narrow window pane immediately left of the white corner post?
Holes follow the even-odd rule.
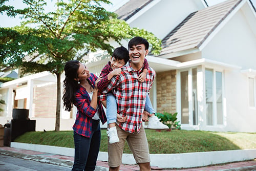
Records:
[[[193,79],[193,125],[198,124],[198,113],[197,113],[197,69],[192,70]]]

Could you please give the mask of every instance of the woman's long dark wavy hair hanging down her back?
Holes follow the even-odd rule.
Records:
[[[75,100],[75,93],[79,88],[78,81],[75,78],[78,77],[77,71],[79,68],[78,60],[70,60],[66,63],[65,71],[65,80],[63,81],[63,105],[65,106],[66,111],[71,111],[72,106]]]

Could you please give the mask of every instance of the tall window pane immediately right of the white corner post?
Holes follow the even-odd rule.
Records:
[[[205,96],[206,96],[206,124],[213,125],[212,102],[213,102],[213,71],[205,70]]]

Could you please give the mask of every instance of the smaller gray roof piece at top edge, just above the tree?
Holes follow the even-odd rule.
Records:
[[[115,13],[118,15],[119,19],[126,21],[152,1],[154,0],[130,0],[117,9]]]

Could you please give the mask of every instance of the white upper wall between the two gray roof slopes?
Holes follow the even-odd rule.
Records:
[[[191,12],[205,8],[201,0],[182,0],[182,3],[180,3],[180,0],[156,2],[158,3],[150,9],[145,7],[136,13],[130,20],[127,20],[127,23],[131,27],[146,29],[160,39],[164,38]],[[144,11],[146,9],[147,11]]]

